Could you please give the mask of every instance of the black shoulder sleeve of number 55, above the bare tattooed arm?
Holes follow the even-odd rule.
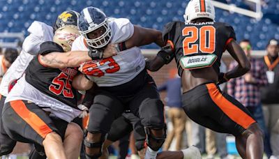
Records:
[[[52,41],[46,41],[45,43],[42,43],[40,45],[39,54],[45,55],[45,54],[49,54],[51,52],[64,52],[64,50],[60,45],[58,45]]]

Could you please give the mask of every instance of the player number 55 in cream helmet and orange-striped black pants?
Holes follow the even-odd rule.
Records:
[[[82,111],[71,85],[77,68],[50,68],[40,56],[68,52],[78,36],[77,27],[67,25],[55,31],[54,42],[42,43],[3,107],[3,128],[9,137],[43,146],[47,158],[78,158],[83,133],[71,121]]]

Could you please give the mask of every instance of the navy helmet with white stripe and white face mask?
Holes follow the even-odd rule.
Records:
[[[102,10],[94,7],[87,7],[82,10],[80,14],[78,27],[80,29],[80,33],[84,36],[87,45],[92,48],[99,49],[105,47],[108,43],[110,43],[110,39],[112,38],[112,31],[108,24],[107,16],[103,13]],[[96,31],[100,27],[104,27],[104,33],[98,38],[89,38],[88,33],[92,31]]]

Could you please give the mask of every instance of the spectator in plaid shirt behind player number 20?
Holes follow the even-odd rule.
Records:
[[[263,69],[264,63],[261,59],[255,59],[251,56],[252,47],[249,40],[242,40],[240,46],[246,53],[251,63],[251,68],[246,75],[229,80],[227,84],[227,93],[242,103],[252,116],[254,116],[254,119],[259,123],[262,130],[264,130],[264,152],[266,156],[270,157],[272,152],[269,142],[269,133],[267,132],[264,122],[259,90],[261,86],[266,86],[267,84],[266,72]],[[233,69],[236,66],[237,63],[234,61],[230,64],[229,69]]]

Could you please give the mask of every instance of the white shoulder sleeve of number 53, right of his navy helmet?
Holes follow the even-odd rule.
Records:
[[[110,23],[112,29],[112,43],[121,43],[134,34],[134,25],[126,18],[117,18]]]

